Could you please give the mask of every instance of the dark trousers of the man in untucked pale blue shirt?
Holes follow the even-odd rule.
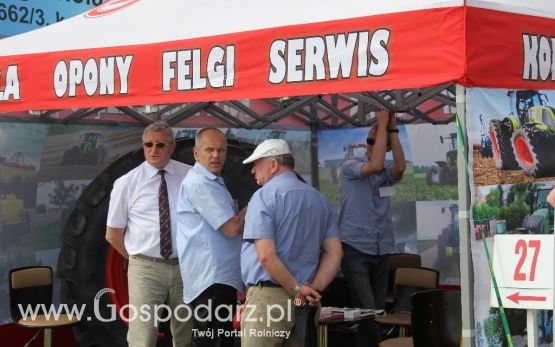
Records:
[[[225,305],[226,308],[220,305]],[[231,334],[233,322],[228,319],[228,307],[233,308],[233,315],[235,315],[236,305],[237,289],[225,284],[213,284],[196,297],[191,302],[194,312],[191,345],[193,347],[233,347],[234,337]],[[220,306],[219,310],[218,306]],[[224,334],[222,331],[230,333]]]

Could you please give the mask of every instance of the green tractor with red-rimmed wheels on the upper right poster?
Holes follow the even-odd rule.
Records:
[[[490,121],[493,157],[498,169],[522,169],[533,177],[555,174],[555,109],[536,90],[507,93],[511,114]]]

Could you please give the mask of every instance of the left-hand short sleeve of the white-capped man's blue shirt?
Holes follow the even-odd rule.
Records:
[[[271,202],[262,198],[262,194],[256,192],[247,209],[245,216],[244,240],[273,239],[274,238],[274,216],[275,209]]]

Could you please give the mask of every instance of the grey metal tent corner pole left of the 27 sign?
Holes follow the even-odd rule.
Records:
[[[466,88],[456,86],[457,114],[460,123],[459,146],[457,148],[457,174],[459,191],[459,236],[461,271],[462,338],[465,347],[474,347],[474,269],[470,249],[470,189],[466,163],[470,155],[466,135]],[[461,148],[461,146],[466,148]]]

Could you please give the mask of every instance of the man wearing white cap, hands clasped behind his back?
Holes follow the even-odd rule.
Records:
[[[262,142],[243,164],[252,162],[263,187],[245,217],[241,274],[249,289],[241,345],[295,346],[293,302],[317,304],[339,269],[337,218],[324,197],[297,178],[284,140]]]

